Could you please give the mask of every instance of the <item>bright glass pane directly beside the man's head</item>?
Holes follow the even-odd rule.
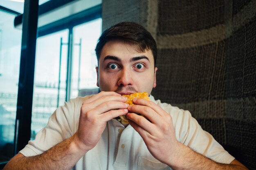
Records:
[[[73,29],[71,98],[76,98],[81,89],[97,88],[97,57],[94,49],[101,35],[101,23],[99,18]]]

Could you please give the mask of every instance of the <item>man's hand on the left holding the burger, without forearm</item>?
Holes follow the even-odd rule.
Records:
[[[81,107],[77,145],[88,151],[98,142],[109,120],[128,113],[126,97],[116,92],[100,92],[85,100]]]

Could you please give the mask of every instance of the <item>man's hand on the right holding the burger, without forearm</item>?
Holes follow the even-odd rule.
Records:
[[[141,135],[150,153],[159,161],[170,164],[178,152],[179,142],[175,137],[170,114],[152,101],[134,99],[135,105],[128,106],[130,125]],[[140,113],[139,116],[135,113]]]

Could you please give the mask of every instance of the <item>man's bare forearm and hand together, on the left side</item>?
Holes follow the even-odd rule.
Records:
[[[4,170],[71,169],[99,141],[108,120],[128,113],[126,98],[115,92],[100,92],[83,102],[77,132],[44,153],[25,157],[18,153]],[[115,110],[113,110],[115,109]]]

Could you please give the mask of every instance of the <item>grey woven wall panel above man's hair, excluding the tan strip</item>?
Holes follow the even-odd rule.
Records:
[[[123,21],[147,26],[148,0],[103,0],[102,30]]]

